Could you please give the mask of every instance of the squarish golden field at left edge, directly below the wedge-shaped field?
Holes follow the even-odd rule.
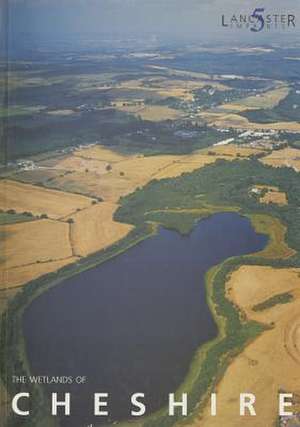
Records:
[[[2,268],[10,269],[36,262],[61,260],[72,256],[69,224],[42,219],[2,225],[5,236]]]

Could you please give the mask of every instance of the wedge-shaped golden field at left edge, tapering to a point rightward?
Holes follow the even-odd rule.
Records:
[[[0,209],[14,209],[18,213],[24,211],[34,215],[47,214],[49,218],[61,218],[77,209],[84,209],[91,204],[91,199],[48,190],[42,187],[20,182],[0,181]]]

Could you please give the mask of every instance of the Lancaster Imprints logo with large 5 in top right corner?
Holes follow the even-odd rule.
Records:
[[[293,13],[269,13],[264,7],[257,7],[250,14],[222,15],[222,27],[248,29],[253,33],[265,30],[286,30],[296,27]]]

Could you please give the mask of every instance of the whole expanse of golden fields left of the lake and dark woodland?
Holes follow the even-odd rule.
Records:
[[[38,277],[125,237],[132,226],[113,219],[120,198],[152,179],[176,177],[218,159],[261,152],[226,145],[214,147],[210,154],[199,150],[182,156],[142,156],[122,155],[97,145],[42,158],[36,163],[39,168],[10,174],[11,179],[0,181],[5,194],[2,209],[15,212],[10,216],[21,223],[0,225],[6,240],[2,261],[6,284],[20,286],[30,274]],[[24,217],[23,212],[31,216]]]

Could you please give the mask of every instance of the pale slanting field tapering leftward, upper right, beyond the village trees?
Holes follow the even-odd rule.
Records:
[[[256,96],[249,96],[232,104],[223,104],[223,110],[241,112],[245,110],[259,110],[262,108],[274,108],[280,101],[287,97],[290,92],[288,86],[282,86],[269,90]]]

